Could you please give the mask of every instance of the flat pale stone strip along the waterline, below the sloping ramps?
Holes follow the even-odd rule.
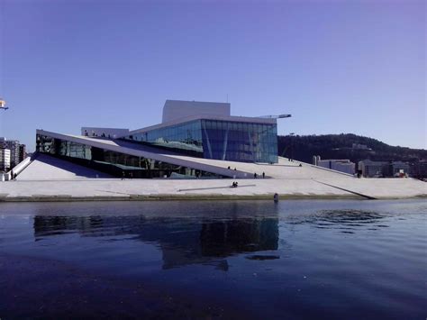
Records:
[[[0,183],[0,201],[216,200],[280,198],[427,197],[427,185],[412,178],[239,179],[93,178]]]

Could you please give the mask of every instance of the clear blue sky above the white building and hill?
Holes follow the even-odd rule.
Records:
[[[166,99],[290,113],[279,134],[426,146],[424,1],[0,0],[0,135],[141,128]]]

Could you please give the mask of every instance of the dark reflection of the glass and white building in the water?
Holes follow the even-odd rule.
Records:
[[[164,269],[206,263],[227,270],[227,261],[223,258],[242,252],[277,250],[278,219],[147,219],[143,215],[34,217],[36,241],[73,231],[87,237],[128,235],[127,241],[131,237],[155,243],[162,251]]]

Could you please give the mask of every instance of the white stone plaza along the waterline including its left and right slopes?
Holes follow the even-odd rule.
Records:
[[[60,162],[61,160],[59,160]],[[217,160],[210,160],[212,165]],[[147,199],[147,198],[272,198],[280,197],[427,197],[427,184],[413,178],[353,178],[309,164],[280,159],[274,165],[218,161],[272,178],[125,179],[66,163],[34,160],[16,181],[0,183],[0,200]],[[78,168],[77,168],[78,167]],[[98,174],[99,178],[96,177]],[[358,196],[362,195],[362,196]]]

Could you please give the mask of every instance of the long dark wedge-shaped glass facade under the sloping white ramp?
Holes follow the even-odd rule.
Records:
[[[36,151],[126,178],[222,178],[210,172],[37,134]]]

